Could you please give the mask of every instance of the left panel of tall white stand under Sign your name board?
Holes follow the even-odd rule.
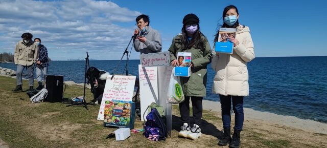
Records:
[[[138,65],[139,77],[139,97],[141,98],[141,120],[143,114],[152,102],[159,103],[158,100],[158,68],[142,67]],[[146,115],[145,115],[146,116]]]

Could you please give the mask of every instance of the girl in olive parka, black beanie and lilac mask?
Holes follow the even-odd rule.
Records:
[[[178,52],[191,52],[190,77],[180,77],[185,101],[179,103],[179,110],[183,125],[178,136],[197,140],[201,136],[202,99],[206,92],[207,65],[211,62],[212,52],[207,38],[200,32],[199,18],[195,14],[185,15],[182,33],[173,38],[169,48],[171,64],[179,66]],[[193,107],[194,125],[190,124],[190,98]]]

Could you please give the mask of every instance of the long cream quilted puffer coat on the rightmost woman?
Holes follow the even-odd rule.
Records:
[[[213,83],[213,93],[231,96],[249,95],[249,75],[246,62],[254,56],[253,42],[248,27],[237,27],[236,39],[238,46],[233,48],[233,54],[216,54],[213,51],[212,68],[216,75]]]

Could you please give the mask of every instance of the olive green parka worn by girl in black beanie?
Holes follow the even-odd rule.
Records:
[[[205,41],[205,48],[196,49],[195,47],[192,47],[191,49],[182,49],[181,34],[178,34],[173,38],[173,43],[168,50],[170,52],[171,61],[177,59],[178,52],[192,53],[191,62],[194,67],[191,68],[191,76],[180,77],[185,96],[205,97],[206,67],[211,62],[212,51],[207,38],[204,35],[202,35],[201,38]]]

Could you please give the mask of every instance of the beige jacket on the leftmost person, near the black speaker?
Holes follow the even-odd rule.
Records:
[[[32,41],[28,45],[25,45],[22,40],[18,41],[14,53],[15,65],[30,66],[33,65],[38,58],[39,51],[36,43]]]

